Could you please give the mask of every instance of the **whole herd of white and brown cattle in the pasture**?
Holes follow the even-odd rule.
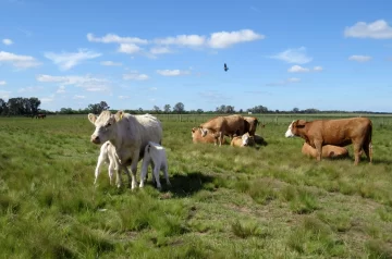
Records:
[[[109,163],[110,184],[117,173],[115,183],[122,185],[121,172],[128,177],[131,188],[136,187],[136,171],[138,161],[143,159],[140,184],[144,187],[148,166],[152,169],[152,181],[157,188],[161,188],[159,172],[162,171],[167,184],[170,185],[168,175],[168,161],[162,143],[161,122],[150,115],[132,115],[119,111],[112,114],[102,111],[99,116],[90,113],[88,120],[95,125],[91,143],[102,144],[98,163],[95,170],[95,182],[103,162]],[[257,118],[228,115],[216,116],[198,127],[192,128],[193,143],[213,143],[215,145],[229,144],[225,136],[231,138],[230,145],[234,147],[250,147],[255,144],[266,145],[264,138],[256,133],[260,125]],[[265,125],[261,124],[261,127]],[[348,156],[344,146],[353,144],[354,164],[358,164],[364,151],[369,162],[372,160],[371,145],[372,124],[367,118],[351,118],[339,120],[317,120],[306,122],[293,121],[285,133],[285,137],[302,137],[305,143],[302,148],[304,155],[316,158],[338,158]],[[131,165],[131,173],[127,166]]]

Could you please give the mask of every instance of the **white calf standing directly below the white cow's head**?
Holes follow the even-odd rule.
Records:
[[[119,163],[119,158],[115,155],[115,148],[113,145],[111,145],[110,141],[106,141],[102,144],[100,148],[100,153],[98,157],[98,163],[95,170],[95,180],[94,184],[97,183],[98,175],[100,173],[99,169],[102,165],[102,163],[109,163],[108,173],[109,173],[109,180],[110,185],[113,183],[113,173],[117,171],[117,185],[121,186],[121,169],[125,171],[127,176],[130,177],[130,171],[126,169],[126,166],[122,166]]]

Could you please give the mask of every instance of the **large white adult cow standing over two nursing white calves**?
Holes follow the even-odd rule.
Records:
[[[91,143],[102,144],[109,140],[115,148],[119,163],[125,166],[131,162],[131,187],[134,189],[137,162],[143,158],[145,147],[148,141],[162,141],[160,121],[150,114],[132,115],[123,111],[115,114],[102,111],[98,118],[89,113],[88,120],[96,126]],[[118,186],[121,186],[121,177]]]

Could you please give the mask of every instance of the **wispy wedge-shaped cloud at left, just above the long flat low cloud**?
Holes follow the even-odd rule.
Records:
[[[101,55],[101,53],[97,53],[86,49],[78,49],[77,52],[46,52],[44,55],[45,58],[51,60],[54,64],[59,65],[60,70],[66,71],[85,60],[98,58]]]

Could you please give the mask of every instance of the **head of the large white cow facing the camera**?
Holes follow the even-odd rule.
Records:
[[[91,143],[102,144],[114,139],[117,134],[115,124],[122,119],[123,114],[123,111],[119,111],[115,114],[111,114],[110,111],[102,111],[97,118],[95,114],[89,113],[88,120],[96,126],[91,135]]]

